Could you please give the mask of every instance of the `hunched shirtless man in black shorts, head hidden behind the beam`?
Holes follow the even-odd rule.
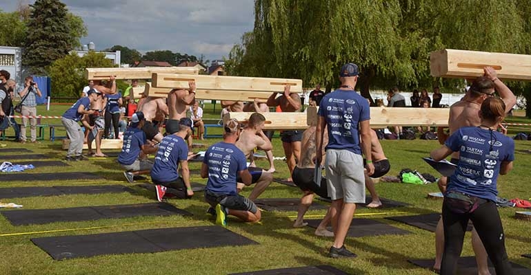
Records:
[[[144,125],[142,126],[142,131],[146,133],[146,138],[157,143],[161,142],[163,135],[159,131],[157,124],[155,124],[157,121],[155,118],[157,118],[157,113],[161,113],[164,116],[168,115],[166,100],[164,100],[164,98],[152,98],[151,96],[148,96],[139,101],[137,112],[139,111],[141,111],[144,114],[144,118],[146,118],[146,122],[144,122]],[[177,124],[177,127],[178,126],[179,124]],[[166,127],[168,127],[168,124],[166,124]],[[177,131],[170,131],[168,133],[177,133]]]

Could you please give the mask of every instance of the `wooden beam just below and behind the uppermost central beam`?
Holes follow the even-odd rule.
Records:
[[[188,84],[187,84],[188,85]],[[151,83],[146,83],[145,91],[148,96],[154,98],[166,98],[172,89],[152,87]],[[215,89],[197,89],[195,98],[201,100],[234,100],[234,101],[252,101],[254,98],[267,100],[271,92],[264,93],[261,91],[229,91]]]

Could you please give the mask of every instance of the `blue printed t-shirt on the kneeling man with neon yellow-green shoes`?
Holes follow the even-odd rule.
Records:
[[[234,144],[219,142],[210,146],[203,163],[208,166],[206,190],[219,195],[236,195],[237,173],[247,169],[246,156]]]

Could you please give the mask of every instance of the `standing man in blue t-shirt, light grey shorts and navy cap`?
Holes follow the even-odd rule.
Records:
[[[365,155],[368,175],[374,173],[370,140],[370,109],[365,98],[354,90],[358,80],[358,66],[347,63],[341,67],[341,87],[321,100],[316,129],[317,152],[323,148],[325,126],[328,127],[326,150],[326,179],[328,195],[332,199],[332,227],[334,244],[328,256],[332,258],[357,256],[345,248],[345,236],[356,210],[356,203],[365,203]],[[360,146],[361,137],[362,145]],[[322,156],[317,154],[316,163]]]

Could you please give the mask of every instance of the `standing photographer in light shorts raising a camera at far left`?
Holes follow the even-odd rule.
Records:
[[[24,79],[24,89],[19,91],[19,96],[22,98],[21,115],[22,124],[20,125],[20,142],[26,143],[26,126],[28,126],[28,118],[26,116],[37,115],[37,96],[41,97],[42,93],[37,83],[33,82],[33,78],[28,76]],[[37,118],[30,118],[31,142],[37,142]]]

